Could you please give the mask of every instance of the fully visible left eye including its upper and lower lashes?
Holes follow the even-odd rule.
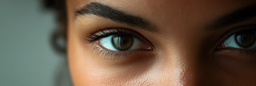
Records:
[[[128,56],[152,50],[152,44],[145,37],[125,28],[99,29],[85,39],[92,44],[93,51],[108,60],[128,59]]]

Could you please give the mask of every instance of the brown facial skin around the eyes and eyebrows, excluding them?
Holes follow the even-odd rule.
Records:
[[[67,0],[68,63],[75,86],[256,85],[256,60],[217,51],[215,43],[234,27],[256,24],[256,18],[218,30],[205,26],[255,0],[93,0],[136,15],[156,25],[157,32],[138,29],[95,15],[75,19],[89,0]],[[98,27],[132,29],[151,51],[135,51],[128,60],[104,59],[84,39]],[[242,60],[241,60],[242,59]]]

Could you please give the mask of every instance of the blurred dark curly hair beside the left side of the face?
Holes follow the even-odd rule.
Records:
[[[44,8],[54,10],[56,13],[56,20],[59,24],[56,30],[52,33],[51,44],[54,50],[61,54],[66,54],[66,44],[60,44],[59,39],[64,40],[66,43],[67,38],[67,16],[65,0],[42,0]],[[55,86],[72,86],[71,78],[68,71],[67,59],[61,63],[55,76]]]

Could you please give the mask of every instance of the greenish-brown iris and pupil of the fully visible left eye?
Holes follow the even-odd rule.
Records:
[[[131,35],[117,34],[112,37],[112,44],[119,51],[125,51],[132,46],[133,37]]]

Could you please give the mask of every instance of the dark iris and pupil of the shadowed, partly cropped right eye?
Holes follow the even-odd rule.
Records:
[[[254,32],[242,32],[236,35],[236,42],[243,48],[251,47],[255,43]]]

